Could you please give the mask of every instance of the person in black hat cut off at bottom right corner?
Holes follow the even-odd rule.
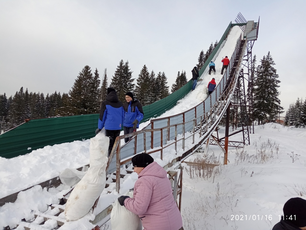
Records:
[[[281,221],[272,230],[306,230],[306,200],[295,197],[289,199],[283,208]]]

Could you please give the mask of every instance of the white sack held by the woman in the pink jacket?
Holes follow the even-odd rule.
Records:
[[[125,196],[133,197],[133,192],[128,191]],[[118,200],[112,204],[110,213],[110,224],[112,230],[142,230],[141,220],[138,215],[132,213],[125,206],[121,206]]]

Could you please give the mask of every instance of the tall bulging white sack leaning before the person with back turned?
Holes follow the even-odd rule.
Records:
[[[67,221],[84,217],[101,195],[106,184],[107,153],[110,139],[99,133],[90,139],[90,167],[72,190],[65,206]]]

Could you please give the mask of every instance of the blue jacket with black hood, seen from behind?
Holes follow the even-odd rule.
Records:
[[[102,102],[98,120],[98,128],[108,130],[119,130],[124,121],[124,110],[122,102],[118,100],[115,91],[111,91],[106,100]]]

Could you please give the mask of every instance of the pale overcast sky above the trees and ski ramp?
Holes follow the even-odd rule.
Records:
[[[27,1],[0,0],[0,94],[67,93],[85,65],[108,83],[119,61],[133,78],[144,64],[164,71],[168,85],[178,71],[191,79],[200,51],[220,40],[241,12],[258,21],[257,64],[271,52],[281,105],[306,98],[306,1]],[[216,65],[222,63],[216,63]]]

